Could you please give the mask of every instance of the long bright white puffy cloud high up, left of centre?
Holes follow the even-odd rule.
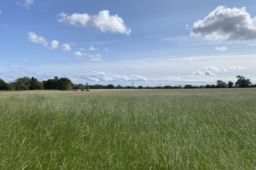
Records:
[[[95,27],[101,32],[119,32],[130,35],[131,29],[128,28],[123,19],[118,15],[109,15],[109,11],[102,10],[98,15],[88,15],[86,13],[74,13],[67,15],[64,12],[59,14],[58,22],[73,26]]]

